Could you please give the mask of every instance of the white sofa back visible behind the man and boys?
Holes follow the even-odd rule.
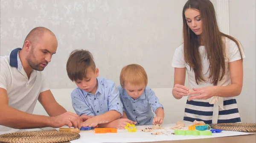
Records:
[[[183,120],[184,109],[186,104],[186,98],[180,100],[175,99],[172,96],[172,88],[153,88],[155,94],[159,98],[161,104],[163,104],[165,118],[164,124],[176,123]],[[61,104],[67,111],[76,113],[72,107],[70,93],[73,88],[69,89],[54,89],[51,90],[55,97],[55,100]],[[36,115],[48,115],[42,105],[37,102],[33,114]]]

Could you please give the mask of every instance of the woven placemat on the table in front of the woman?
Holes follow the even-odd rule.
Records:
[[[256,123],[215,123],[209,126],[224,131],[256,132]]]

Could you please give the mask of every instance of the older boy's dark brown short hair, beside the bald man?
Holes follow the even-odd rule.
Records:
[[[67,60],[67,75],[71,81],[86,78],[87,69],[96,69],[93,55],[88,50],[73,50]]]

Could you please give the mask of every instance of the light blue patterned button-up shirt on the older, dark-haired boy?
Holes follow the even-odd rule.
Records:
[[[97,83],[95,95],[87,93],[78,87],[73,90],[71,98],[76,114],[79,116],[96,116],[104,114],[109,110],[115,110],[122,116],[122,102],[115,83],[105,78],[97,78]]]

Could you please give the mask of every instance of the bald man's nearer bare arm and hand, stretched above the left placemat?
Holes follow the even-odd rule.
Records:
[[[65,112],[55,117],[47,117],[43,115],[32,115],[9,107],[7,91],[0,88],[0,125],[14,129],[58,128],[64,125],[70,127],[73,125],[76,127],[78,124],[75,123],[76,121],[79,121],[78,115],[70,112]]]

